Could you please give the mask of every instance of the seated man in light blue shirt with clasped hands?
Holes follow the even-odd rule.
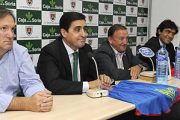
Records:
[[[46,90],[25,47],[13,42],[15,18],[0,7],[0,112],[50,111],[51,92]],[[21,87],[26,97],[16,97]]]

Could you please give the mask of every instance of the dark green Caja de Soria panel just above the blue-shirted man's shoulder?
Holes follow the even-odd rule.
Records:
[[[29,54],[39,54],[41,51],[41,40],[18,40],[17,43],[26,47]]]

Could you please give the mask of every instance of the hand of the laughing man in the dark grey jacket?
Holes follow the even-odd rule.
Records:
[[[131,68],[129,68],[128,70],[130,70],[130,75],[131,75],[131,79],[136,79],[139,75],[139,73],[141,72],[142,68],[139,67],[138,65],[133,66]]]

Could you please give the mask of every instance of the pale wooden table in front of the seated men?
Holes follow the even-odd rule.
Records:
[[[140,79],[133,81],[149,82]],[[168,84],[180,87],[180,80],[172,79]],[[110,97],[89,98],[82,94],[54,95],[53,98],[54,104],[50,112],[6,111],[0,113],[0,120],[99,120],[135,109],[134,104]]]

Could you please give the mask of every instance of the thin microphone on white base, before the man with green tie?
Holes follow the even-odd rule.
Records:
[[[94,56],[91,52],[88,52],[88,56],[90,59],[94,61],[95,67],[96,67],[96,73],[97,73],[97,79],[98,79],[98,89],[90,89],[86,92],[86,95],[92,98],[98,98],[102,96],[108,96],[109,92],[107,90],[101,90],[100,88],[100,80],[99,80],[99,73],[97,68],[96,60],[94,59]]]

